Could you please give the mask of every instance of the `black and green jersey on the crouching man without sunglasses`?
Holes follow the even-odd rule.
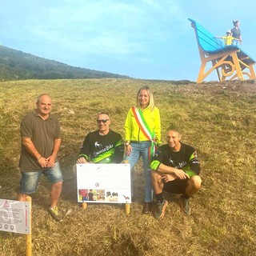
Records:
[[[160,146],[150,163],[150,168],[158,170],[161,163],[176,169],[182,169],[190,177],[199,174],[201,170],[196,150],[182,142],[181,149],[178,152],[171,150],[168,144]]]

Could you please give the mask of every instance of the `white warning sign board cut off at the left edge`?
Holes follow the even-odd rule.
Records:
[[[30,234],[30,203],[0,199],[0,231]]]

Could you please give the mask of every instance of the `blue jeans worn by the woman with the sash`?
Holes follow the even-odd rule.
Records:
[[[151,142],[131,142],[130,146],[132,147],[132,152],[130,155],[126,155],[125,157],[125,159],[128,160],[130,163],[132,191],[133,191],[133,169],[135,164],[138,162],[139,158],[142,157],[144,177],[145,177],[144,202],[153,201],[153,190],[151,185],[151,170],[150,170],[150,158],[149,158],[150,145],[151,145]]]

